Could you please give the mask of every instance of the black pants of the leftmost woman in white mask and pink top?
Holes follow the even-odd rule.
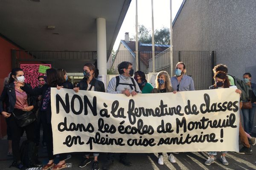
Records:
[[[16,116],[21,115],[24,111],[20,109],[15,109],[13,111]],[[15,120],[13,114],[8,118],[9,125],[12,133],[12,154],[14,161],[20,161],[20,136],[23,134],[24,130],[26,132],[27,140],[35,142],[35,122],[25,126],[19,127]]]

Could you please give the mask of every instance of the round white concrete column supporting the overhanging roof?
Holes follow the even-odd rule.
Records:
[[[106,20],[97,18],[97,68],[99,75],[107,75]]]

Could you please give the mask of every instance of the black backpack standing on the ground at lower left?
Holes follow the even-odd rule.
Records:
[[[38,164],[38,149],[35,142],[26,140],[20,146],[20,161],[25,167],[35,167]]]

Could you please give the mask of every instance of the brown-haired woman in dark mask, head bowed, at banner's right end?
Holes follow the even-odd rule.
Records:
[[[229,88],[230,87],[230,81],[227,77],[227,74],[224,73],[223,71],[216,72],[214,75],[214,80],[215,80],[215,84],[210,86],[209,89]],[[241,96],[241,93],[242,93],[241,90],[236,89],[234,92],[240,94],[240,96]],[[228,161],[225,157],[226,153],[227,153],[227,151],[222,151],[221,157],[220,157],[220,161],[224,165],[228,165]],[[210,165],[215,161],[214,156],[217,155],[217,152],[209,152],[208,154],[209,154],[209,158],[207,159],[207,161],[204,162],[204,164],[206,164],[206,165]]]

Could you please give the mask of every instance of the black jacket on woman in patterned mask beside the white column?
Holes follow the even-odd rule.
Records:
[[[105,86],[102,81],[99,81],[95,78],[90,81],[90,85],[94,86],[94,91],[99,91],[99,92],[105,92]],[[84,77],[77,85],[80,90],[87,90],[88,84],[87,84],[87,78]]]

